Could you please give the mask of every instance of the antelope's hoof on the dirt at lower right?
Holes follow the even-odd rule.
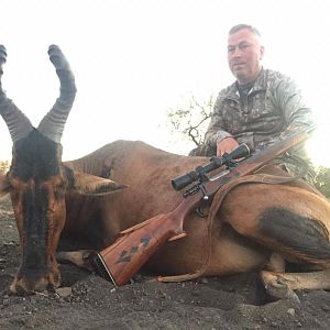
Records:
[[[278,275],[272,274],[270,272],[262,272],[262,280],[267,294],[278,299],[289,299],[295,302],[300,302],[297,294],[288,286],[286,280]]]

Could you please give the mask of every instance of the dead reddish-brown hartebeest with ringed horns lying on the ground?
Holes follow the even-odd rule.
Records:
[[[59,77],[61,96],[37,129],[0,90],[0,113],[13,141],[12,164],[0,178],[0,189],[11,195],[22,248],[13,292],[59,285],[55,252],[61,233],[88,240],[95,249],[106,248],[121,230],[172,211],[182,194],[173,190],[170,179],[208,161],[142,142],[118,141],[84,158],[62,163],[59,141],[76,88],[59,48],[51,46],[48,53]],[[1,59],[6,62],[4,47],[0,48]],[[129,187],[121,189],[124,186],[116,183]],[[113,190],[117,193],[110,195]],[[191,273],[204,265],[207,243],[211,244],[211,257],[206,276],[257,268],[284,272],[284,261],[289,261],[316,265],[319,272],[264,271],[267,288],[330,287],[330,206],[308,189],[241,185],[226,197],[210,242],[206,240],[207,223],[197,213],[188,217],[185,230],[186,238],[166,243],[152,257],[146,265],[150,270]]]

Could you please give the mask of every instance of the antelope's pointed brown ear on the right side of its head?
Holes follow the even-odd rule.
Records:
[[[127,188],[127,185],[121,185],[110,179],[82,172],[72,172],[74,183],[70,188],[81,195],[103,196],[113,191]]]

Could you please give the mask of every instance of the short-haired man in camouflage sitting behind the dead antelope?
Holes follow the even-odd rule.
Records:
[[[311,110],[297,85],[280,73],[263,68],[264,52],[255,28],[239,24],[229,31],[228,63],[237,81],[220,91],[205,144],[190,154],[222,156],[243,142],[260,151],[292,130],[312,123]],[[314,183],[304,147],[280,157],[280,164],[288,173]]]

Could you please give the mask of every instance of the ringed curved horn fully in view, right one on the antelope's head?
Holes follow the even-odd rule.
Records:
[[[64,125],[74,105],[76,84],[74,74],[62,51],[56,45],[48,48],[50,59],[56,68],[61,82],[61,94],[52,110],[43,118],[37,130],[54,142],[59,143]]]

